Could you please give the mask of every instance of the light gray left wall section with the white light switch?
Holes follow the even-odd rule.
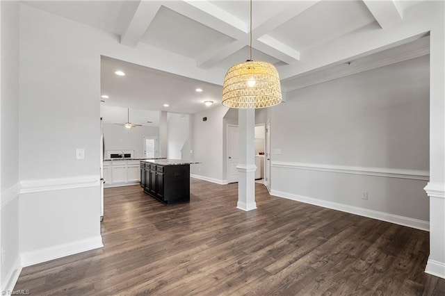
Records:
[[[20,6],[23,265],[102,246],[97,38],[90,26]],[[84,159],[76,159],[77,148]]]

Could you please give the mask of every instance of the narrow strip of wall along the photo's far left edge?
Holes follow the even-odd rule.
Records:
[[[0,81],[0,189],[1,249],[0,288],[6,286],[19,261],[19,3],[1,1]]]

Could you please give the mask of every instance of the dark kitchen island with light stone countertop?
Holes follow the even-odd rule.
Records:
[[[150,159],[140,161],[140,186],[165,204],[190,201],[190,165],[193,161]]]

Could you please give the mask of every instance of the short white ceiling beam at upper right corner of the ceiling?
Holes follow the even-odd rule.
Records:
[[[403,10],[394,0],[363,0],[381,28],[387,28],[403,19]]]

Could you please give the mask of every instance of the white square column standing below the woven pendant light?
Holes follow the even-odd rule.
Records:
[[[251,211],[255,202],[255,110],[238,110],[238,204],[237,208]]]

